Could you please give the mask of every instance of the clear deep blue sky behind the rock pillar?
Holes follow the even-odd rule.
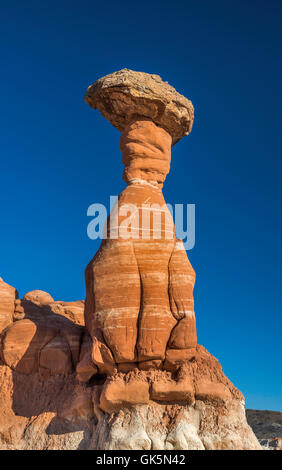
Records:
[[[124,188],[119,132],[83,101],[121,68],[190,98],[164,195],[196,204],[199,343],[248,407],[282,411],[281,16],[277,0],[1,6],[0,276],[84,298],[87,208]]]

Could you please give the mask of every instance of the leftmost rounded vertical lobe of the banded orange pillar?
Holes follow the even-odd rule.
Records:
[[[140,281],[132,244],[105,240],[86,268],[85,278],[85,322],[90,334],[95,325],[115,361],[135,361]]]

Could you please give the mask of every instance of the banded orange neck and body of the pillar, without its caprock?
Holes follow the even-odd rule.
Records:
[[[195,273],[182,243],[175,239],[158,186],[169,169],[170,136],[143,119],[125,129],[121,148],[128,165],[126,180],[132,184],[119,196],[119,211],[108,220],[108,238],[86,268],[85,322],[92,337],[94,329],[99,332],[117,364],[138,362],[142,369],[159,368],[168,342],[175,349],[196,345]],[[149,184],[139,183],[138,177]],[[135,212],[125,227],[131,207]],[[149,226],[143,223],[146,211]]]

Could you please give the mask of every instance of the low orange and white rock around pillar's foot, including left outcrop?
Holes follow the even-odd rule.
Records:
[[[25,317],[0,337],[0,449],[260,448],[242,394],[202,346],[168,349],[167,370],[113,363],[101,375],[84,326],[47,293],[21,302]]]

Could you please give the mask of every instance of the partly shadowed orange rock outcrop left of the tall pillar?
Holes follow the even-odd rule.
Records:
[[[22,319],[6,328],[1,338],[2,359],[8,366],[3,369],[10,378],[5,393],[12,398],[5,426],[15,427],[13,420],[22,423],[17,438],[6,432],[7,445],[86,449],[95,421],[92,388],[80,385],[75,376],[85,328],[54,313],[49,305],[26,300],[21,309]]]

